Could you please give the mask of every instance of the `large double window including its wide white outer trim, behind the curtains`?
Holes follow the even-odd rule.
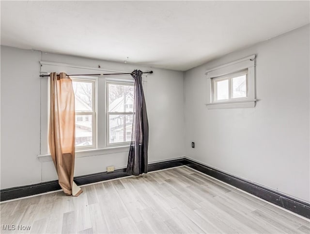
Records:
[[[118,73],[41,61],[41,72]],[[128,71],[126,71],[128,72]],[[76,156],[128,151],[134,114],[134,80],[130,75],[70,76],[75,95]],[[143,85],[146,88],[146,77]],[[50,161],[48,147],[49,78],[41,78],[41,147],[39,160]]]

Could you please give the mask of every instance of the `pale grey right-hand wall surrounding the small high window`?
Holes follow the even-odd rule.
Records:
[[[309,202],[309,41],[307,25],[186,71],[186,156]],[[256,107],[208,110],[205,70],[254,53]]]

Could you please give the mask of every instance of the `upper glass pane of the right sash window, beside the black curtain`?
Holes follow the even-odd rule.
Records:
[[[109,112],[133,112],[134,86],[109,84]]]

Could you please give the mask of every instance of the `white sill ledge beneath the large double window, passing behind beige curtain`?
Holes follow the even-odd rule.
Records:
[[[118,146],[118,147],[110,147],[110,148],[104,148],[104,149],[83,150],[83,151],[76,151],[76,158],[90,157],[90,156],[97,156],[97,155],[111,154],[111,153],[128,152],[128,151],[129,151],[129,146]],[[53,161],[50,154],[38,155],[37,157],[40,162]]]

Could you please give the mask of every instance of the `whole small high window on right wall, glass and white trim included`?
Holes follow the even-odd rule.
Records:
[[[255,107],[255,57],[253,54],[206,71],[208,109]]]

